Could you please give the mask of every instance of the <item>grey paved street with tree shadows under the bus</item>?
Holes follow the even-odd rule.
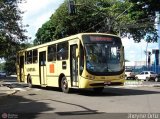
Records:
[[[129,118],[130,113],[160,112],[160,87],[106,87],[102,94],[94,94],[92,90],[73,90],[65,94],[57,88],[31,89],[23,85],[13,88],[18,92],[0,98],[2,114],[38,119],[106,119],[106,116],[118,119]],[[160,118],[159,114],[156,116]]]

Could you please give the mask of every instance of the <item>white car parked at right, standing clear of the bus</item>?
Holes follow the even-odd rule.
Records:
[[[135,76],[137,79],[144,80],[144,81],[150,81],[154,80],[156,81],[157,74],[153,71],[142,71],[140,74]]]

